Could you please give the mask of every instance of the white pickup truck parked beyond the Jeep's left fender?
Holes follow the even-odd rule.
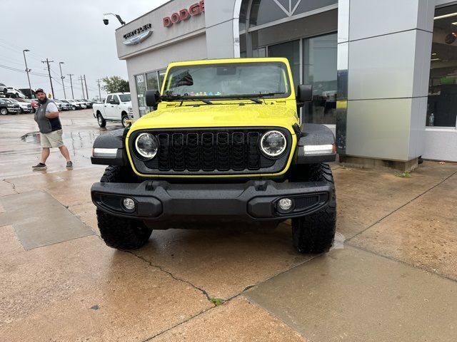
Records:
[[[106,126],[106,121],[121,121],[126,127],[126,120],[134,118],[131,108],[130,93],[114,93],[106,96],[105,103],[92,105],[94,118],[100,127]]]

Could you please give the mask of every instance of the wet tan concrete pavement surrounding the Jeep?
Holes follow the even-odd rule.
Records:
[[[457,165],[335,166],[325,255],[296,254],[288,224],[154,231],[119,252],[90,200],[88,141],[106,132],[90,115],[62,118],[75,169],[53,153],[36,173],[31,115],[0,118],[0,341],[457,341]]]

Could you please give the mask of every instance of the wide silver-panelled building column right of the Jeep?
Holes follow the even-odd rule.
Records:
[[[423,153],[435,0],[338,2],[341,162],[408,170]]]

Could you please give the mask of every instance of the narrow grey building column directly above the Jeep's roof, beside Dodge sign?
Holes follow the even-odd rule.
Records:
[[[239,14],[241,0],[206,0],[206,49],[208,58],[240,56]]]

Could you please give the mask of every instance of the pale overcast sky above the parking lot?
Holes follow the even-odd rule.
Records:
[[[103,24],[104,13],[119,14],[128,23],[169,0],[0,0],[0,83],[29,88],[25,71],[31,68],[31,88],[51,93],[44,63],[49,58],[56,98],[64,98],[59,62],[64,76],[73,73],[74,96],[82,98],[79,76],[86,75],[89,98],[98,95],[96,84],[104,76],[127,79],[125,61],[119,61],[114,30],[120,26],[114,16]],[[19,70],[14,71],[11,68]],[[34,75],[33,73],[45,76]],[[60,84],[59,84],[60,83]],[[69,76],[64,79],[66,98],[71,98]],[[102,96],[104,96],[102,92]]]

